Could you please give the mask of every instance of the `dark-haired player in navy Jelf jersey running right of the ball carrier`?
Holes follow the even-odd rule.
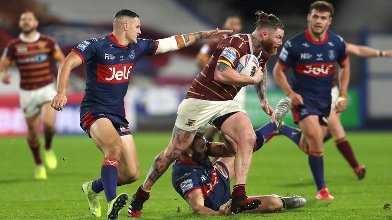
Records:
[[[346,109],[350,62],[344,40],[328,31],[333,6],[324,1],[310,5],[308,30],[288,40],[274,67],[278,85],[292,100],[292,114],[302,130],[300,147],[308,150],[317,199],[333,199],[324,180],[323,138],[331,110],[334,65],[339,64],[340,93],[336,111]],[[284,71],[293,68],[290,88]]]

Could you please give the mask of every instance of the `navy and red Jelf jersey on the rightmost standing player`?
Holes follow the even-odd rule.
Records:
[[[292,67],[292,90],[311,100],[331,103],[334,65],[348,58],[344,40],[327,31],[324,41],[311,39],[309,30],[289,39],[279,55],[278,62]]]

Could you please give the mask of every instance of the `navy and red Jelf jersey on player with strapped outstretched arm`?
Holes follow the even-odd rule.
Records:
[[[136,62],[144,55],[155,54],[158,42],[137,39],[124,46],[113,34],[83,41],[72,51],[86,64],[86,89],[81,116],[88,112],[112,113],[125,117],[124,97]]]

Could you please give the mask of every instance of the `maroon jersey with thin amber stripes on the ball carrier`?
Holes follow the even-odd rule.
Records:
[[[214,80],[214,71],[217,63],[225,63],[235,69],[239,58],[253,54],[252,38],[248,34],[237,34],[224,39],[208,60],[204,69],[194,78],[185,98],[197,98],[211,101],[231,100],[237,95],[240,87],[223,84]],[[266,68],[269,55],[265,51],[254,54],[259,66]]]

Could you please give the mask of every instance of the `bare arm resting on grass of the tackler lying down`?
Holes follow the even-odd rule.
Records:
[[[195,189],[186,197],[186,202],[197,215],[228,215],[230,214],[231,200],[219,207],[219,211],[212,210],[204,206],[204,198],[201,189]]]

